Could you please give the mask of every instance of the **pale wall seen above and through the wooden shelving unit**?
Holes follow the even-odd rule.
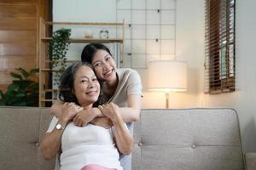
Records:
[[[70,3],[69,0],[53,0],[53,20],[56,22],[115,22],[116,21],[116,2],[113,0],[76,0]],[[71,28],[72,38],[83,38],[86,35],[93,35],[99,38],[100,31],[105,26],[54,26],[54,31],[62,27]],[[115,36],[115,27],[111,27],[113,32],[109,37]],[[110,33],[109,33],[110,34]],[[81,52],[86,43],[70,43],[67,51],[68,60],[80,60]],[[115,57],[115,43],[107,44],[108,48]],[[69,62],[70,64],[70,62]],[[67,64],[68,65],[68,64]],[[53,82],[53,87],[57,84]]]

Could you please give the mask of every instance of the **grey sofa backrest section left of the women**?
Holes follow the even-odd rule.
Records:
[[[51,118],[49,109],[0,107],[0,169],[54,169],[39,147]]]

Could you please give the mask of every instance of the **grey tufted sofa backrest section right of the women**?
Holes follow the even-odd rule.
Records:
[[[134,137],[133,170],[244,169],[234,110],[143,110]]]

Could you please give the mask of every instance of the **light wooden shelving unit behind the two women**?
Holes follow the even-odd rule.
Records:
[[[59,71],[59,69],[49,69],[49,58],[48,58],[48,42],[51,37],[48,36],[47,31],[49,26],[121,26],[122,27],[122,37],[120,38],[70,38],[69,42],[79,43],[79,42],[101,42],[101,43],[120,43],[122,48],[122,61],[125,59],[125,21],[119,23],[112,22],[49,22],[45,21],[42,18],[40,19],[39,24],[39,107],[44,107],[46,102],[54,102],[56,100],[56,89],[51,89],[48,87],[49,82],[49,73],[54,71]],[[72,63],[76,60],[67,60],[67,63]],[[52,96],[52,99],[46,99],[46,94],[49,93]]]

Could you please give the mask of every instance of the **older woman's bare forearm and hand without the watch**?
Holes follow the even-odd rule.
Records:
[[[102,111],[103,115],[108,116],[108,118],[113,122],[113,127],[115,129],[115,142],[119,151],[123,154],[130,154],[133,139],[130,131],[125,127],[125,123],[120,115],[119,106],[110,103],[107,105],[100,105],[99,109]]]

